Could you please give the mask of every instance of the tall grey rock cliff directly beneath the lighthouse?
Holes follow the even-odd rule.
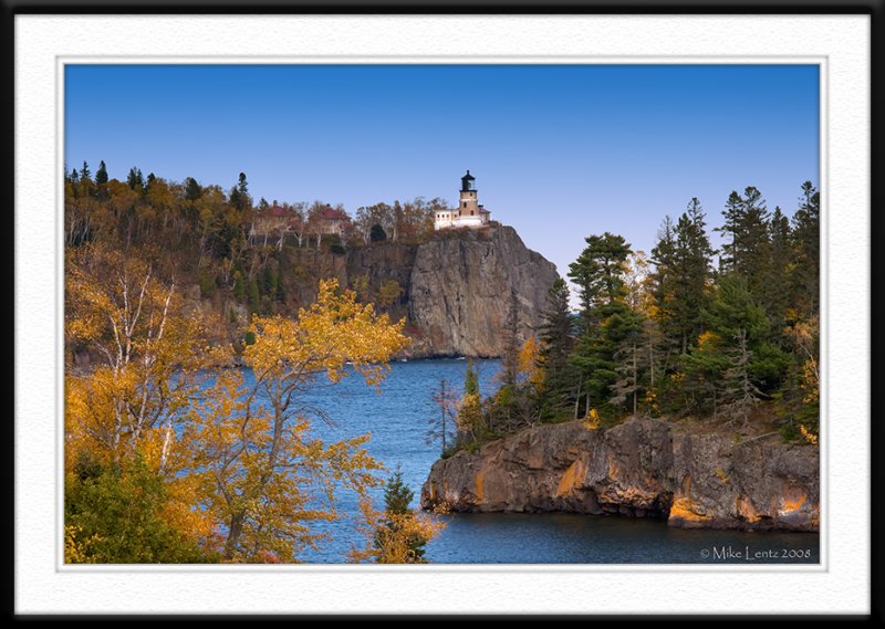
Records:
[[[499,356],[511,293],[524,340],[541,323],[558,277],[555,265],[507,226],[439,231],[421,244],[378,242],[346,254],[294,249],[282,264],[292,310],[315,300],[320,277],[337,277],[344,286],[362,282],[372,301],[385,282],[395,281],[402,293],[388,310],[393,318],[407,319],[407,357]]]

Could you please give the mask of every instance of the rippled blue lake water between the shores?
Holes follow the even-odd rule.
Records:
[[[497,360],[477,361],[480,391],[494,391]],[[348,377],[334,387],[311,394],[310,401],[324,409],[334,424],[314,422],[317,434],[339,440],[369,432],[368,451],[388,470],[397,464],[404,482],[420,488],[439,444],[428,445],[429,401],[440,378],[462,390],[462,359],[393,363],[391,374],[376,394],[361,378]],[[247,378],[251,374],[247,370]],[[436,411],[438,412],[438,411]],[[375,493],[383,505],[382,491]],[[343,495],[343,517],[321,523],[330,539],[301,560],[342,563],[364,537],[356,530],[356,502]],[[746,533],[733,531],[685,531],[663,521],[565,513],[552,514],[450,514],[447,526],[427,545],[426,557],[446,564],[685,564],[685,563],[819,563],[819,536],[811,533]]]

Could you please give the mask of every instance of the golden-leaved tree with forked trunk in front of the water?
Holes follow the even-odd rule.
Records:
[[[337,516],[339,490],[365,496],[378,484],[368,434],[334,443],[313,436],[311,422],[323,413],[304,394],[339,382],[348,364],[378,386],[386,363],[408,344],[403,325],[353,291],[339,292],[335,280],[321,282],[316,303],[294,319],[252,318],[254,343],[243,352],[252,378],[219,375],[187,436],[202,504],[226,531],[227,560],[296,560],[323,537],[311,524]]]

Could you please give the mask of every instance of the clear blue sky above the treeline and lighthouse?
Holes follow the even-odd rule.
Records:
[[[649,251],[698,197],[792,214],[819,184],[815,65],[69,65],[65,161],[258,200],[479,201],[560,274],[583,238]]]

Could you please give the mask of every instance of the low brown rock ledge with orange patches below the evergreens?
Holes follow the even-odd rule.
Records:
[[[542,426],[437,461],[421,506],[667,518],[685,528],[818,531],[818,449],[733,443],[635,419],[610,430]]]

